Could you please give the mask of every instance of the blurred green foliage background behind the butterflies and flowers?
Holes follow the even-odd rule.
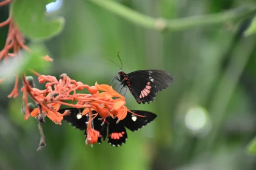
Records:
[[[179,19],[254,1],[117,2],[151,17]],[[124,72],[162,69],[174,81],[150,104],[137,104],[127,92],[129,109],[154,112],[157,119],[140,131],[127,130],[128,140],[119,148],[105,141],[88,151],[83,131],[47,119],[46,147],[37,152],[37,122],[23,120],[21,95],[7,98],[13,82],[1,85],[0,169],[256,169],[256,158],[246,152],[256,135],[256,37],[243,36],[251,18],[240,25],[158,32],[89,1],[59,0],[48,5],[48,13],[63,16],[66,23],[60,35],[45,42],[54,63],[40,73],[67,73],[90,86],[108,84],[119,70],[108,56],[119,64],[120,52]],[[0,22],[8,15],[9,7],[1,7]],[[1,49],[7,29],[0,28]]]

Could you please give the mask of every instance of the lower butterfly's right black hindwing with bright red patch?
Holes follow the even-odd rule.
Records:
[[[117,147],[126,143],[127,133],[122,121],[116,123],[116,120],[117,118],[111,120],[108,124],[108,143]]]

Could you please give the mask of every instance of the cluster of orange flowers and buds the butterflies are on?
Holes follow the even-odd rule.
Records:
[[[49,75],[40,75],[37,72],[34,72],[34,74],[38,76],[39,83],[46,83],[46,89],[39,90],[35,88],[34,83],[23,76],[24,86],[21,91],[26,106],[24,120],[27,120],[29,116],[40,117],[40,115],[46,115],[55,123],[61,124],[63,116],[70,113],[69,110],[66,110],[66,112],[60,114],[58,112],[60,106],[85,108],[82,115],[88,114],[89,116],[86,141],[93,144],[96,143],[99,137],[99,134],[91,127],[93,118],[99,114],[104,121],[108,116],[117,117],[120,121],[127,115],[128,109],[125,106],[124,97],[113,90],[112,86],[98,83],[95,83],[95,86],[88,86],[80,81],[71,80],[66,74],[60,75],[59,81]],[[77,91],[84,89],[87,89],[89,94],[77,93]],[[32,112],[28,107],[27,95],[40,106]],[[74,104],[67,103],[67,101],[72,101]],[[91,114],[91,110],[96,110],[98,113]]]

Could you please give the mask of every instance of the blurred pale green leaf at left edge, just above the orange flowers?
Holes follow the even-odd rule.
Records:
[[[37,72],[49,69],[52,62],[42,59],[42,56],[48,54],[46,47],[41,43],[29,44],[28,47],[32,52],[22,50],[15,58],[9,58],[9,60],[0,64],[0,78],[21,72],[30,72],[30,69]]]

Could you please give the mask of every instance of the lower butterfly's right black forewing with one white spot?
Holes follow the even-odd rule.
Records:
[[[147,111],[141,111],[141,110],[131,110],[131,112],[127,112],[126,118],[124,118],[122,123],[125,127],[130,129],[130,131],[138,131],[141,129],[141,127],[146,126],[148,123],[151,123],[151,121],[155,120],[157,118],[156,114],[153,114],[152,112]],[[137,115],[135,115],[137,114]],[[138,115],[141,115],[138,116]]]

